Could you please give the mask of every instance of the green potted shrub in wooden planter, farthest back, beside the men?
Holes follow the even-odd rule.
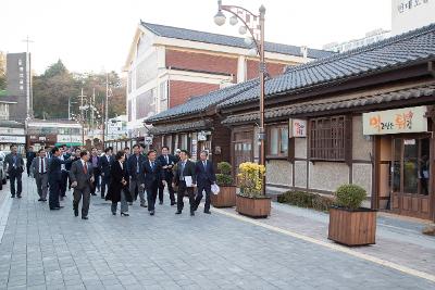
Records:
[[[214,207],[232,207],[236,205],[236,187],[232,176],[232,165],[228,162],[217,163],[216,184],[220,187],[217,194],[211,196]]]

